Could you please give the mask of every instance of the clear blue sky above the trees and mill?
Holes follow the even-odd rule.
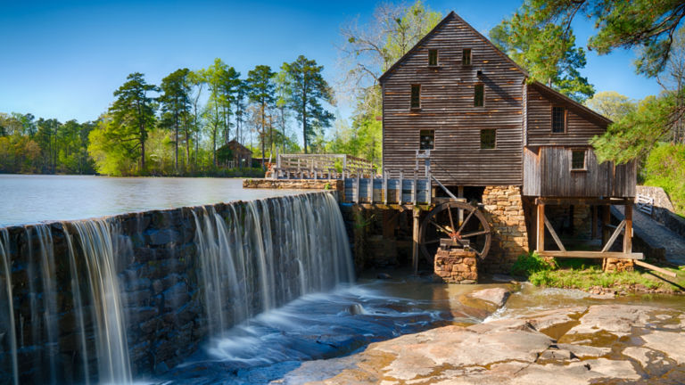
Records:
[[[517,1],[428,0],[454,10],[487,35]],[[173,70],[197,70],[219,57],[243,76],[255,65],[277,69],[299,54],[337,78],[339,29],[376,3],[327,1],[9,1],[0,0],[0,112],[30,112],[61,121],[96,119],[131,72],[159,84]],[[592,33],[575,26],[579,44]],[[598,91],[634,99],[657,94],[652,79],[635,75],[634,54],[588,54],[582,70]],[[348,107],[340,107],[342,115]]]

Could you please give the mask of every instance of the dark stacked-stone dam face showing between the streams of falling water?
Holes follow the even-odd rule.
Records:
[[[277,199],[279,198],[270,198],[267,201]],[[134,375],[164,373],[192,355],[207,340],[210,331],[205,311],[207,306],[202,293],[203,284],[198,274],[201,266],[194,242],[194,217],[198,212],[210,211],[227,220],[230,212],[244,211],[247,209],[246,205],[245,202],[236,201],[202,208],[154,210],[107,218],[113,229],[115,268],[121,288],[131,372]],[[268,209],[273,210],[274,206],[269,204]],[[65,230],[70,234],[76,231],[70,222],[43,226],[50,233],[53,242],[55,272],[51,279],[54,280],[59,303],[59,335],[54,336],[54,340],[59,341],[59,346],[51,349],[58,348],[60,352],[58,376],[63,376],[67,382],[83,382],[85,379],[68,377],[70,373],[79,373],[73,368],[81,365],[81,355],[85,354],[80,351],[78,340],[78,315],[77,308],[72,303],[74,296],[71,292],[69,248],[64,235]],[[6,231],[10,241],[8,251],[12,263],[12,286],[17,288],[14,291],[14,318],[25,320],[17,325],[17,335],[21,337],[18,341],[19,372],[22,381],[40,383],[50,380],[45,377],[50,373],[40,373],[40,368],[46,367],[45,362],[40,361],[40,352],[50,347],[45,340],[40,340],[40,336],[32,335],[34,326],[31,321],[35,318],[33,313],[42,309],[29,306],[30,297],[44,297],[47,291],[43,289],[40,280],[37,280],[36,272],[32,271],[36,269],[35,266],[41,266],[36,252],[41,245],[35,227],[12,226]],[[271,228],[275,228],[275,224],[271,224]],[[276,244],[279,242],[276,239],[278,234],[274,233],[273,236]],[[75,252],[80,252],[78,247],[75,247]],[[277,254],[276,250],[274,252]],[[276,260],[280,257],[276,255],[274,258]],[[79,271],[83,269],[84,266],[78,266]],[[277,274],[276,278],[285,280],[292,277],[284,272]],[[86,282],[84,277],[81,279]],[[0,274],[0,287],[4,288],[5,284],[4,274]],[[29,292],[29,288],[34,292]],[[258,285],[251,298],[254,314],[260,311],[259,299],[263,294],[259,290]],[[291,299],[285,292],[277,292],[275,305],[283,305]],[[95,306],[89,293],[82,293],[82,300],[84,307]],[[231,306],[230,299],[226,299],[226,305]],[[242,321],[227,320],[227,324]],[[8,335],[7,326],[4,324],[4,316],[0,316],[0,367],[9,367],[7,362],[11,359],[7,350],[2,351],[2,336]],[[91,359],[89,365],[96,365],[93,361],[96,351],[95,329],[90,322],[87,324],[86,340],[87,351],[91,355],[88,357]],[[9,383],[12,373],[2,372],[0,371],[0,383]]]

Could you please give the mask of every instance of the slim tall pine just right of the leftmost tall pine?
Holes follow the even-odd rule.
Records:
[[[178,131],[181,123],[187,127],[188,111],[190,110],[190,83],[188,74],[190,70],[176,70],[166,78],[161,79],[161,102],[162,121],[170,122],[174,128],[174,168],[178,172]],[[188,135],[186,130],[186,154],[188,154]],[[189,156],[189,155],[186,155]]]

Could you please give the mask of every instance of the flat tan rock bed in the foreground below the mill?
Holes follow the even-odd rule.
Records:
[[[459,299],[492,311],[501,289]],[[685,313],[607,304],[563,307],[483,324],[450,325],[309,361],[281,383],[685,383]]]

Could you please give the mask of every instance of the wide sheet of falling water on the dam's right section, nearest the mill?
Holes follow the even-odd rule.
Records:
[[[337,202],[303,194],[193,212],[213,335],[252,315],[354,279]],[[278,274],[276,274],[278,272]]]

